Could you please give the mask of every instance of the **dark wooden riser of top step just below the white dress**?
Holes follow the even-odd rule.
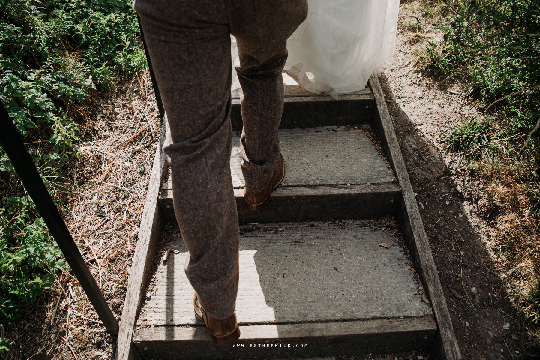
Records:
[[[372,94],[284,98],[280,128],[349,125],[370,123],[375,102]],[[240,99],[232,100],[231,123],[234,131],[242,130]]]

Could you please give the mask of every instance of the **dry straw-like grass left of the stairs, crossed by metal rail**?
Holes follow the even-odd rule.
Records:
[[[119,86],[78,109],[85,124],[75,146],[80,158],[70,160],[67,174],[76,185],[60,209],[118,320],[160,132],[149,73]],[[114,356],[116,340],[72,274],[61,274],[29,310],[6,329],[16,343],[6,359]]]

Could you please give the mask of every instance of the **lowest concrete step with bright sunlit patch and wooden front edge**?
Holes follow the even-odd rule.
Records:
[[[326,225],[326,226],[325,226]],[[133,341],[144,358],[329,356],[413,350],[436,325],[402,246],[361,220],[242,226],[237,317],[241,337],[215,347],[193,313],[184,242],[164,248]],[[381,242],[392,244],[390,248]],[[366,352],[364,352],[366,354]]]

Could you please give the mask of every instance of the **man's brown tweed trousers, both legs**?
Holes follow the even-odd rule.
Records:
[[[226,319],[238,293],[238,213],[231,178],[231,38],[242,91],[240,146],[249,192],[262,191],[279,157],[286,42],[306,0],[137,0],[171,138],[176,219],[185,271],[207,313]]]

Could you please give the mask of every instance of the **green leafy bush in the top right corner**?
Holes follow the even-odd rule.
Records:
[[[540,117],[540,8],[532,0],[444,1],[428,42],[423,68],[447,81],[463,81],[464,94],[478,93],[490,107],[503,105],[513,131],[532,129]],[[532,145],[532,144],[531,144]]]

